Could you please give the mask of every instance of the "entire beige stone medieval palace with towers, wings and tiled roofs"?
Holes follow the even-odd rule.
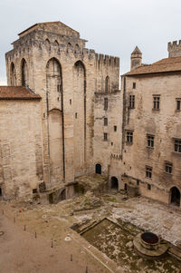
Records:
[[[180,207],[181,43],[130,72],[96,54],[61,22],[34,24],[5,54],[0,87],[0,195],[33,194],[84,174],[109,187]]]

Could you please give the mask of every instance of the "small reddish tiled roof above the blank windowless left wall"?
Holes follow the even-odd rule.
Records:
[[[0,86],[0,100],[41,100],[41,96],[23,86]]]

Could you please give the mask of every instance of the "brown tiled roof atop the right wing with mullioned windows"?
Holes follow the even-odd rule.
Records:
[[[151,73],[167,73],[181,71],[181,57],[162,59],[156,63],[144,64],[138,68],[125,73],[126,76],[151,74]]]

